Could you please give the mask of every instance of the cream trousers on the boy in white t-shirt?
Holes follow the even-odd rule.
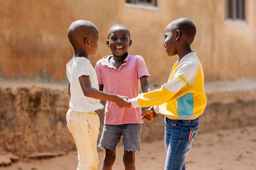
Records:
[[[77,170],[97,170],[99,163],[97,154],[99,116],[94,111],[74,112],[68,110],[66,120],[78,152]]]

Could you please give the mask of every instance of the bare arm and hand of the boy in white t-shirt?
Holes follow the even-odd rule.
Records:
[[[104,93],[96,88],[93,88],[91,85],[90,76],[88,75],[82,75],[79,77],[79,82],[83,90],[83,94],[86,97],[115,102],[120,108],[130,107],[130,104],[127,102],[128,97]]]

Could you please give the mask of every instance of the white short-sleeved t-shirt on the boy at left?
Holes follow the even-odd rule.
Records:
[[[79,77],[82,75],[90,76],[90,81],[93,88],[99,89],[96,72],[85,57],[73,57],[66,65],[67,79],[70,82],[70,110],[77,112],[91,112],[103,108],[100,100],[91,97],[86,97],[83,94]]]

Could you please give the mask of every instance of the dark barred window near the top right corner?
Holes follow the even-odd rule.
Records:
[[[226,0],[227,19],[245,21],[245,0]]]

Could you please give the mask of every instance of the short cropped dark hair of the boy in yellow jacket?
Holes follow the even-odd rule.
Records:
[[[192,44],[195,34],[196,28],[195,24],[189,18],[177,18],[169,23],[169,28],[171,31],[176,31],[177,29],[180,30],[180,34],[184,35],[188,42]]]

